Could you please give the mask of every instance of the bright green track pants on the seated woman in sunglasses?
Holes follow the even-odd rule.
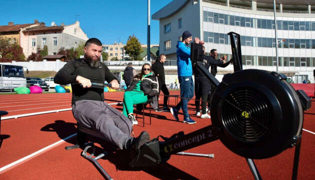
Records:
[[[133,104],[139,104],[147,101],[147,95],[143,92],[125,91],[123,94],[122,113],[128,117],[128,113],[133,113]]]

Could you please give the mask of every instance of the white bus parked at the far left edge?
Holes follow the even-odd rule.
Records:
[[[23,66],[0,64],[0,90],[12,90],[15,87],[26,87]]]

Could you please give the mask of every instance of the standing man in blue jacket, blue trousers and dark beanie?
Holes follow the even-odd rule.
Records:
[[[180,101],[175,107],[170,108],[171,114],[178,121],[178,111],[181,108],[183,112],[183,122],[194,124],[196,121],[192,120],[188,114],[187,102],[193,97],[193,81],[192,81],[192,65],[190,60],[190,47],[188,44],[192,41],[192,35],[189,31],[184,31],[181,35],[182,41],[177,41],[177,73],[180,84]],[[203,44],[199,38],[194,38],[195,43]]]

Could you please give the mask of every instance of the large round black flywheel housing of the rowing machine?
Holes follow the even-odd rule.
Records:
[[[303,110],[283,74],[246,69],[226,74],[211,99],[211,121],[219,139],[246,158],[268,158],[299,135]]]

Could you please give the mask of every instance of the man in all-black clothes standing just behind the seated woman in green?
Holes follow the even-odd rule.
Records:
[[[165,84],[165,73],[164,73],[164,66],[163,66],[163,63],[165,62],[165,60],[166,60],[166,55],[160,54],[159,59],[156,59],[156,61],[153,63],[152,70],[158,79],[158,94],[161,90],[164,94],[163,110],[169,112],[170,109],[167,107],[169,91]],[[157,100],[158,100],[158,95],[157,95]]]

